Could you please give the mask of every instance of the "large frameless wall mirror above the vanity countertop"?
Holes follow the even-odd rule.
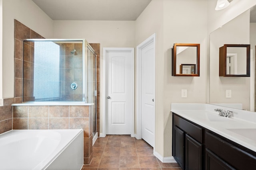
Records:
[[[250,13],[248,10],[210,33],[210,104],[255,111],[256,21],[250,20]],[[251,18],[256,18],[255,14]],[[224,44],[250,44],[250,77],[219,76],[219,47]],[[236,48],[227,49],[227,57],[230,58],[226,62],[230,60],[234,66],[237,64],[237,68],[225,68],[226,72],[233,74],[237,70],[238,74],[244,74],[244,70],[239,70],[245,66],[244,63],[238,59],[236,64],[232,63],[236,53],[239,53]],[[231,90],[231,98],[226,96],[226,90]]]

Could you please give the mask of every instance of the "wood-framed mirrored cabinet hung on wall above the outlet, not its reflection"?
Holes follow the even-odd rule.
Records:
[[[200,44],[174,43],[172,76],[200,75]]]

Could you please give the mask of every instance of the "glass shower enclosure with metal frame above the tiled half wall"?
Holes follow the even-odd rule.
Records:
[[[96,53],[85,39],[23,40],[23,102],[94,103]]]

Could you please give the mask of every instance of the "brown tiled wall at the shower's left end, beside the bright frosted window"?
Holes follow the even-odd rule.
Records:
[[[34,43],[23,44],[22,39],[42,39],[41,35],[27,27],[26,25],[14,20],[14,78],[15,103],[22,103],[22,70],[24,62],[24,100],[33,101],[33,81],[34,81]]]

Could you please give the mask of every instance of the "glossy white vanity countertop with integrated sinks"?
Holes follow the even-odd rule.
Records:
[[[171,111],[256,152],[256,113],[211,104],[172,104]],[[216,108],[234,113],[222,117]]]

